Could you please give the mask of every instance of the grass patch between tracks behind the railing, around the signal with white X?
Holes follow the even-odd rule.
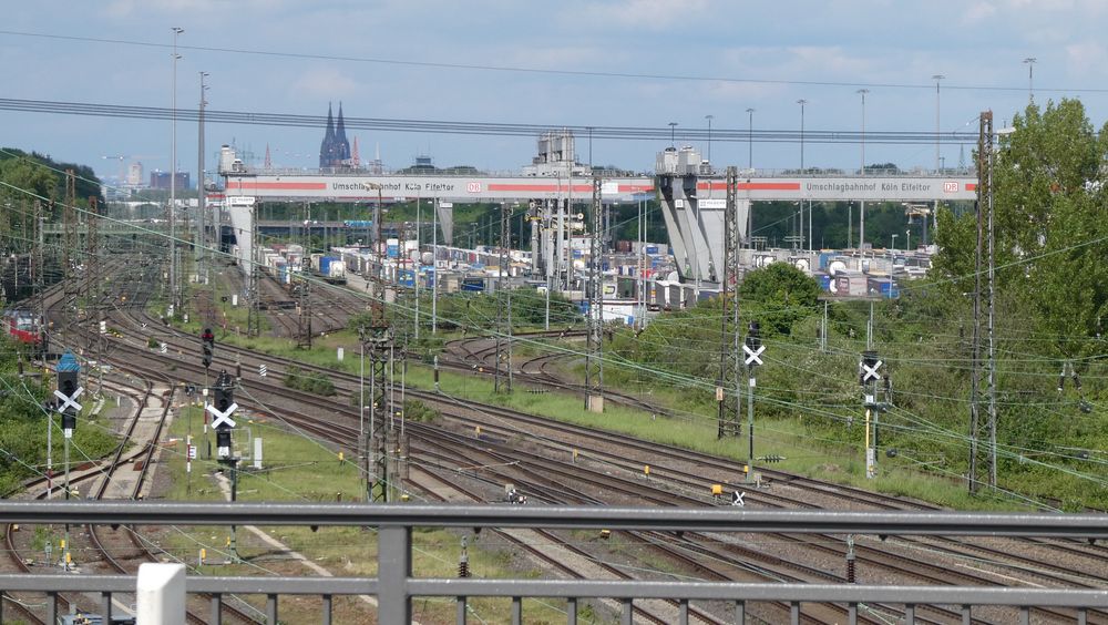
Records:
[[[197,407],[181,411],[173,422],[171,436],[183,439],[192,431],[201,458],[193,463],[191,479],[185,472],[184,441],[166,449],[162,457],[162,469],[172,475],[165,499],[184,501],[223,501],[223,491],[214,475],[224,468],[205,458],[207,442],[214,448],[214,434],[202,433],[202,418]],[[358,501],[362,499],[365,484],[352,454],[343,453],[330,444],[321,444],[298,436],[279,422],[243,419],[236,430],[235,448],[239,454],[253,450],[250,438],[264,441],[264,468],[244,470],[239,477],[239,501],[294,501],[327,502]],[[377,574],[377,533],[361,527],[260,527],[269,536],[306,555],[312,562],[328,568],[336,575]],[[469,570],[474,577],[519,578],[541,575],[538,570],[515,559],[513,546],[492,532],[474,536],[471,532],[456,533],[444,530],[418,529],[413,533],[413,572],[421,577],[454,577],[462,550],[462,539],[469,543]],[[256,534],[239,527],[237,553],[242,563],[227,563],[230,552],[227,547],[227,527],[174,527],[166,531],[160,544],[167,552],[206,575],[258,575],[279,572],[289,575],[314,575],[302,565],[289,562],[277,553],[276,547],[263,542]],[[199,550],[207,552],[206,563],[198,565]],[[249,597],[259,609],[264,597]],[[564,623],[564,612],[557,602],[525,602],[529,623]],[[281,600],[283,619],[305,623],[318,619],[318,600]],[[476,598],[470,602],[472,613],[486,622],[505,622],[511,604],[507,601]],[[429,597],[416,604],[422,622],[438,623],[452,621],[453,597]],[[584,608],[584,606],[582,606]],[[337,622],[359,622],[365,619],[368,605],[356,598],[336,597]]]

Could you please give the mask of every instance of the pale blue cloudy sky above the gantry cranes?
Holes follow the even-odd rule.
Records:
[[[178,39],[177,103],[194,107],[198,72],[212,109],[324,114],[342,101],[347,115],[557,126],[628,125],[745,130],[748,107],[762,130],[856,131],[860,83],[868,131],[935,127],[933,74],[944,74],[941,127],[975,130],[995,112],[997,126],[1027,102],[1035,57],[1036,101],[1079,96],[1096,126],[1108,114],[1108,2],[1083,0],[105,0],[10,2],[0,25],[4,98],[168,106],[167,49],[27,37],[11,32],[168,44]],[[192,50],[234,48],[357,59],[462,65],[715,76],[688,81],[552,75],[366,61],[290,59]],[[749,81],[749,82],[747,82]],[[767,81],[767,82],[759,82]],[[789,84],[788,82],[841,84]],[[902,85],[902,86],[895,86]],[[999,89],[997,89],[999,88]],[[196,127],[178,123],[177,162],[196,167]],[[387,166],[417,154],[439,165],[507,171],[530,162],[531,137],[358,131],[362,158],[380,146]],[[208,146],[235,142],[260,160],[315,166],[318,129],[211,124]],[[646,171],[668,142],[595,141],[594,163]],[[141,156],[147,171],[170,163],[170,123],[0,111],[0,144],[37,150],[114,175],[117,161]],[[209,151],[211,152],[211,151]],[[587,152],[584,140],[578,154]],[[796,144],[755,145],[756,167],[799,164]],[[947,166],[956,147],[944,147]],[[806,146],[809,166],[855,167],[859,146]],[[970,153],[966,151],[966,158]],[[717,165],[746,166],[746,143],[715,142]],[[866,162],[931,166],[931,146],[868,145]],[[209,162],[214,163],[214,160]]]

